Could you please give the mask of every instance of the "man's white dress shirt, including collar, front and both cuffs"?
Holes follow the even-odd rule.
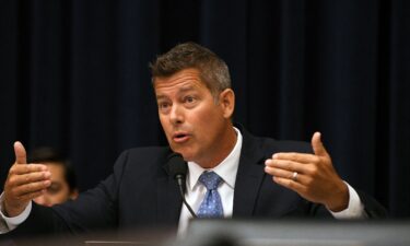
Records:
[[[231,153],[223,160],[219,165],[212,169],[204,169],[194,162],[188,162],[188,173],[186,178],[186,194],[185,199],[191,206],[195,212],[198,211],[207,188],[201,185],[198,179],[199,176],[204,171],[213,171],[221,178],[222,184],[218,187],[218,192],[221,196],[223,213],[225,218],[231,218],[233,212],[233,202],[234,202],[234,190],[235,190],[235,180],[236,173],[239,165],[241,149],[242,149],[242,134],[241,131],[234,128],[236,131],[236,143]],[[361,219],[366,218],[363,203],[359,198],[358,192],[348,184],[349,188],[349,206],[345,210],[340,212],[331,212],[336,219]],[[0,234],[8,233],[23,223],[30,215],[32,211],[32,203],[30,202],[25,210],[17,216],[8,218],[2,211],[3,204],[3,195],[0,196]],[[179,225],[178,225],[178,235],[184,235],[189,220],[192,219],[188,209],[183,204],[180,215],[179,215]]]

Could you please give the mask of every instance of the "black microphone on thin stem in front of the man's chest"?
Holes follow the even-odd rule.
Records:
[[[176,179],[179,187],[179,194],[183,198],[184,204],[189,210],[192,218],[197,218],[197,214],[195,214],[194,210],[190,208],[188,202],[185,200],[185,178],[187,176],[188,165],[184,161],[183,156],[179,153],[172,153],[168,156],[168,163],[169,163],[169,173]]]

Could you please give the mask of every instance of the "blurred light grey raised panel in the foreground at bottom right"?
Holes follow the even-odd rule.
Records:
[[[167,246],[408,246],[410,221],[197,220],[187,235]]]

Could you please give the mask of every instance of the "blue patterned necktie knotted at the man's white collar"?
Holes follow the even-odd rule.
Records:
[[[218,186],[222,178],[213,172],[203,172],[199,181],[207,187],[207,194],[197,212],[198,218],[223,218],[223,207]]]

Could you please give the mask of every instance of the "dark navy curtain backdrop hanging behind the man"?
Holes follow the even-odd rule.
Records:
[[[410,216],[410,1],[2,0],[0,174],[12,144],[58,148],[82,190],[125,149],[166,144],[148,62],[187,40],[226,60],[235,120],[309,141]]]

